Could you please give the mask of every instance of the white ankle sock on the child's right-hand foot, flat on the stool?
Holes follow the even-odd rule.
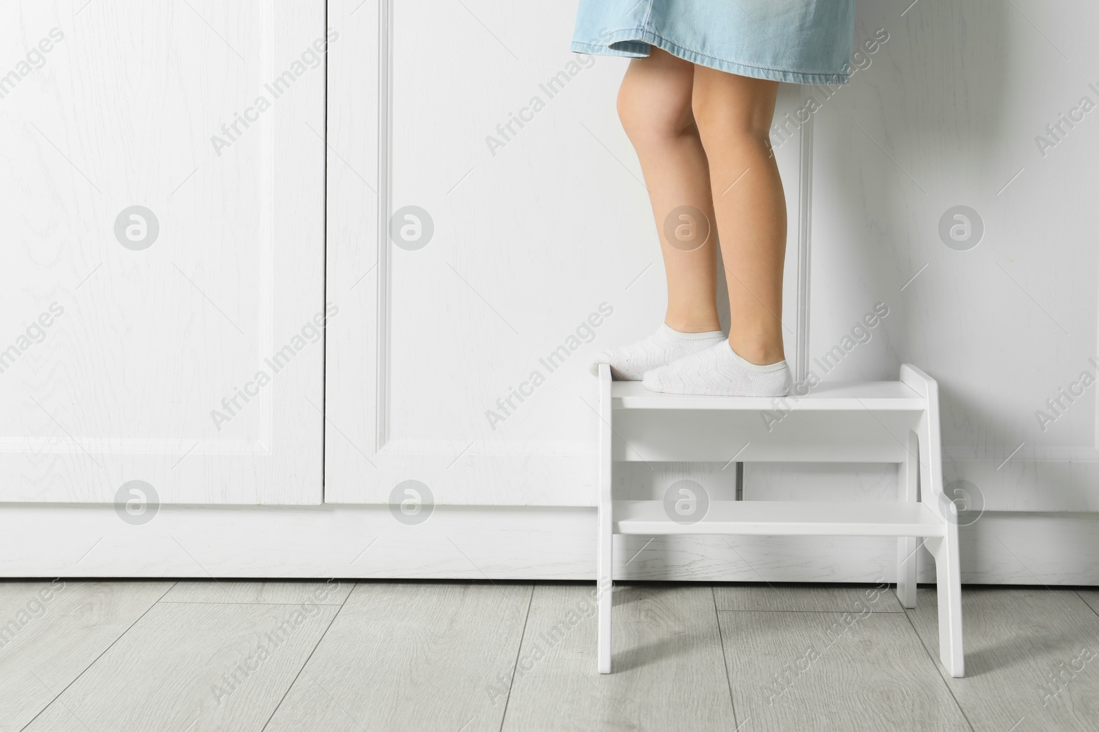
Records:
[[[722,340],[715,346],[645,373],[645,388],[669,394],[786,396],[792,379],[786,361],[757,365]]]

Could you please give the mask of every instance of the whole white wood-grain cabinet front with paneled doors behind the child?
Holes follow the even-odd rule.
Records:
[[[920,364],[946,482],[987,508],[1099,509],[1096,12],[1039,30],[1010,3],[869,3],[853,85],[780,98],[789,357],[833,380]],[[592,505],[587,364],[655,327],[664,283],[614,112],[625,61],[570,54],[573,19],[499,0],[0,9],[18,52],[0,59],[0,499],[144,481],[166,504],[384,504],[417,481],[437,504]],[[809,95],[803,150],[786,115]],[[967,225],[956,206],[975,247],[942,239]],[[755,464],[745,491],[891,497],[892,475],[854,470]],[[629,480],[685,471],[734,475]]]

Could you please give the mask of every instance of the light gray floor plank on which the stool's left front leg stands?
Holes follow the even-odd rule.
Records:
[[[596,669],[595,584],[539,585],[504,730],[733,730],[709,586],[620,585],[613,672]]]

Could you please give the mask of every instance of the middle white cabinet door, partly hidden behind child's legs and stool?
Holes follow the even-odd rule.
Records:
[[[615,113],[625,59],[571,54],[575,8],[558,3],[333,0],[330,13],[344,38],[330,59],[341,315],[325,500],[592,505],[588,363],[648,335],[665,303]],[[791,358],[799,149],[795,135],[778,150]]]

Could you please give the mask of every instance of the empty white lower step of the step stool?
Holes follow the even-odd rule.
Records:
[[[946,522],[922,503],[715,500],[700,520],[697,506],[663,500],[613,502],[612,533],[815,537],[942,537]],[[673,518],[675,517],[675,518]]]

